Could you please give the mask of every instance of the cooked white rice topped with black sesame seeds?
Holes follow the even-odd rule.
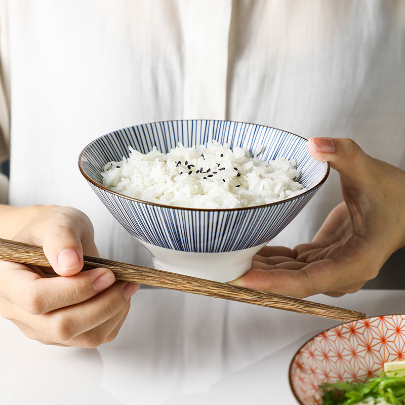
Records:
[[[294,181],[299,176],[294,160],[267,162],[240,147],[179,143],[167,154],[156,147],[146,154],[129,149],[128,158],[105,165],[103,185],[151,203],[227,209],[273,203],[305,191]]]

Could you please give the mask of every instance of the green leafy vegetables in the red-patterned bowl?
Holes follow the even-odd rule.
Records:
[[[405,371],[405,370],[404,370]],[[385,401],[389,405],[405,405],[405,374],[398,371],[389,376],[382,373],[366,383],[322,384],[322,405],[354,405],[365,402],[370,405]]]

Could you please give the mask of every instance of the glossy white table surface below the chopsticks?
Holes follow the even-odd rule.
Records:
[[[311,301],[367,316],[404,313],[405,291]],[[2,405],[296,404],[300,346],[341,322],[161,289],[141,289],[118,337],[97,349],[47,346],[0,319]]]

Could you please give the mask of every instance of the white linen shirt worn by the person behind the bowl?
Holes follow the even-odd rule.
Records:
[[[349,137],[405,169],[405,2],[0,1],[9,203],[84,211],[102,257],[151,265],[77,167],[89,142],[119,128],[248,121]],[[271,243],[310,241],[341,200],[332,172]]]

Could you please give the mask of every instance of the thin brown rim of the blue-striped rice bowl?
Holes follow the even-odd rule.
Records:
[[[192,207],[177,207],[177,206],[169,206],[169,205],[165,205],[165,204],[157,204],[157,203],[152,203],[151,201],[145,201],[145,200],[141,200],[138,198],[134,198],[134,197],[130,197],[128,195],[124,195],[124,194],[120,194],[116,191],[110,190],[107,187],[102,186],[101,184],[95,182],[93,179],[91,179],[83,170],[82,168],[82,156],[85,152],[85,150],[94,142],[96,142],[98,139],[103,138],[105,136],[110,135],[112,132],[116,132],[116,131],[122,131],[128,128],[135,128],[135,127],[139,127],[141,125],[152,125],[152,124],[165,124],[165,123],[184,123],[184,122],[191,122],[191,121],[216,121],[216,122],[220,122],[220,123],[234,123],[234,124],[247,124],[247,125],[255,125],[258,127],[263,127],[263,128],[270,128],[276,131],[282,131],[282,132],[287,132],[291,135],[296,136],[297,138],[301,138],[307,141],[307,138],[301,136],[301,135],[297,135],[294,134],[293,132],[290,131],[286,131],[286,130],[281,130],[279,128],[275,128],[275,127],[270,127],[267,125],[261,125],[261,124],[254,124],[254,123],[248,123],[245,121],[234,121],[234,120],[228,120],[228,119],[167,119],[167,120],[162,120],[162,121],[152,121],[150,123],[144,123],[144,124],[137,124],[137,125],[133,125],[133,126],[129,126],[129,127],[124,127],[121,128],[119,130],[114,130],[111,132],[108,132],[104,135],[99,136],[98,138],[94,139],[93,141],[89,142],[80,152],[79,157],[78,157],[78,167],[80,170],[80,173],[82,173],[82,175],[84,176],[84,178],[91,183],[93,186],[107,192],[107,193],[111,193],[111,194],[115,194],[121,198],[125,198],[128,199],[130,201],[134,201],[135,203],[138,204],[143,204],[143,205],[148,205],[148,206],[154,206],[154,207],[160,207],[160,208],[167,208],[167,209],[174,209],[174,210],[184,210],[184,211],[198,211],[198,212],[228,212],[228,211],[241,211],[241,210],[253,210],[253,209],[258,209],[258,208],[264,208],[264,207],[271,207],[271,206],[276,206],[278,204],[283,204],[286,203],[286,201],[292,201],[294,199],[300,198],[305,194],[309,194],[310,192],[312,192],[314,189],[320,187],[323,183],[325,183],[326,179],[328,178],[329,174],[330,174],[330,170],[331,170],[331,165],[329,163],[329,161],[327,162],[323,162],[327,164],[327,170],[325,175],[322,177],[322,179],[315,184],[314,186],[312,186],[310,189],[294,196],[294,197],[290,197],[290,198],[286,198],[280,201],[274,201],[274,203],[269,203],[269,204],[261,204],[261,205],[257,205],[257,206],[250,206],[250,207],[237,207],[237,208],[192,208]]]

